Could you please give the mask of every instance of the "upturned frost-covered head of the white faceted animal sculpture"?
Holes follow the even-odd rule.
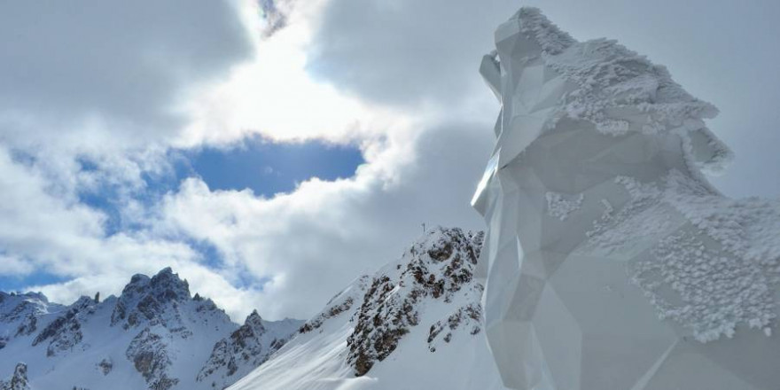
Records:
[[[578,203],[585,191],[617,176],[651,182],[674,168],[702,178],[702,171],[717,173],[731,158],[704,123],[717,109],[691,97],[666,68],[618,43],[579,43],[537,9],[523,8],[497,28],[495,46],[480,73],[502,110],[492,159],[472,199],[486,218],[497,191],[521,190],[523,197],[510,197],[518,201],[513,207],[534,218],[528,207]],[[582,217],[592,222],[592,215]],[[518,228],[524,227],[532,227],[519,234],[528,251],[544,231],[534,232],[533,223]],[[566,228],[582,230],[572,220]]]

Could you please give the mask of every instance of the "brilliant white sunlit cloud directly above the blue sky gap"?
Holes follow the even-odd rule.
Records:
[[[404,115],[397,110],[367,105],[308,74],[312,35],[326,4],[315,0],[288,5],[286,27],[255,42],[253,61],[233,69],[226,82],[193,93],[186,105],[193,121],[177,144],[230,144],[249,134],[277,141],[319,138],[345,143],[402,121]],[[246,11],[254,7],[247,6],[245,13],[256,15]]]

